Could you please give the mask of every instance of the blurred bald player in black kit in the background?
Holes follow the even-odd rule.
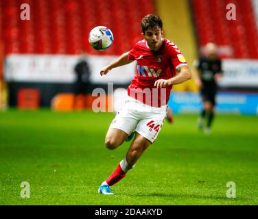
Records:
[[[218,90],[217,81],[222,77],[221,61],[217,56],[217,46],[213,42],[207,43],[205,55],[193,62],[193,78],[196,85],[200,88],[203,109],[198,118],[198,129],[211,133],[211,124],[214,118],[215,95]],[[204,127],[205,116],[207,125]]]

